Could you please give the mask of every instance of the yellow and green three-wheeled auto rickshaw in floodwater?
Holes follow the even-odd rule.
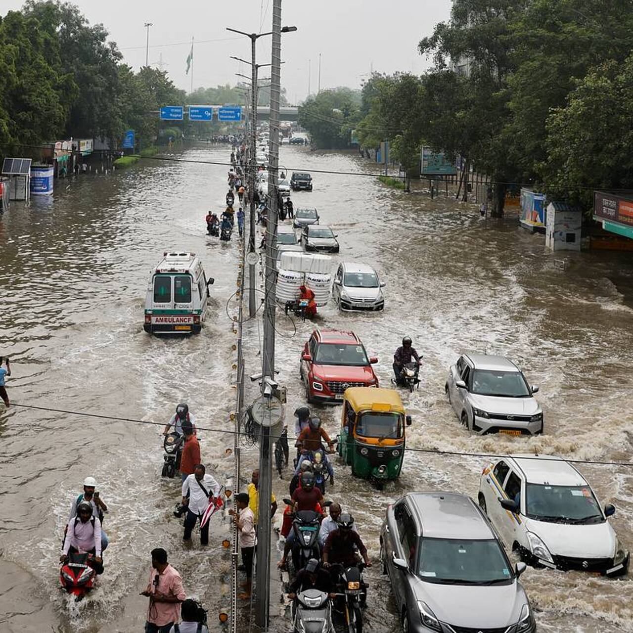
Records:
[[[350,387],[343,396],[339,455],[353,475],[380,489],[400,475],[404,429],[410,424],[394,389]]]

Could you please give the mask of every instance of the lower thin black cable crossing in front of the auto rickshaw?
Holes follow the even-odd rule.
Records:
[[[97,418],[99,420],[116,420],[116,422],[133,422],[137,424],[147,424],[153,426],[165,426],[165,422],[153,422],[152,420],[137,420],[135,418],[122,418],[114,415],[103,415],[100,413],[87,413],[86,411],[72,411],[68,409],[56,409],[49,406],[37,406],[35,404],[22,404],[22,403],[11,403],[13,406],[21,406],[27,409],[35,409],[38,411],[50,411],[51,413],[67,413],[68,415],[80,415],[85,418]],[[199,427],[196,426],[196,430],[208,431],[211,433],[221,433],[225,435],[238,435],[238,436],[248,436],[247,433],[235,430],[226,430],[226,429],[217,429],[215,427]],[[271,436],[271,439],[275,441],[279,439],[281,436]],[[288,440],[296,441],[298,437],[287,437]],[[434,454],[434,455],[446,455],[446,456],[456,456],[456,457],[486,457],[492,459],[503,459],[508,458],[509,454],[497,454],[497,453],[467,453],[465,451],[442,451],[437,448],[412,448],[410,446],[404,447],[404,449],[396,446],[399,450],[404,450],[409,453],[425,453],[425,454]],[[541,461],[561,461],[561,458],[550,456],[550,455],[539,455],[535,453],[532,455],[522,455],[522,460],[541,460]],[[567,461],[570,464],[583,464],[587,466],[615,466],[615,467],[625,467],[630,468],[633,467],[633,462],[631,461],[605,461],[605,460],[572,460],[567,458],[562,458],[563,461]]]

